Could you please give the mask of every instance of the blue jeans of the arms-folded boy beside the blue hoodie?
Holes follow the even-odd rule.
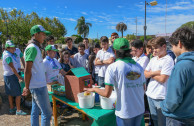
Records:
[[[160,107],[160,103],[163,99],[147,98],[154,126],[166,126],[166,117],[162,114]]]

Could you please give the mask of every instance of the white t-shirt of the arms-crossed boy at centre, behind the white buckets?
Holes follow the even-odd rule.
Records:
[[[98,51],[96,58],[99,58],[100,60],[107,60],[111,57],[115,57],[112,49],[108,49],[107,51],[103,51],[102,49]],[[98,65],[99,66],[99,71],[98,71],[98,76],[100,77],[105,77],[105,72],[109,64],[105,65]]]

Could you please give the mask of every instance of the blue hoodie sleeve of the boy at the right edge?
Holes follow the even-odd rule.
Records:
[[[173,113],[179,105],[183,102],[185,84],[191,78],[191,74],[187,74],[186,71],[181,69],[182,66],[177,66],[172,71],[171,76],[167,83],[167,94],[164,101],[161,102],[160,106],[163,112]],[[190,71],[188,73],[191,73]]]

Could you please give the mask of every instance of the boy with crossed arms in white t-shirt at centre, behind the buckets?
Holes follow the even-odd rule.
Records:
[[[114,53],[111,48],[108,47],[108,38],[102,36],[100,38],[102,49],[98,51],[94,62],[95,66],[99,66],[98,72],[98,85],[104,87],[105,72],[109,64],[114,62]]]

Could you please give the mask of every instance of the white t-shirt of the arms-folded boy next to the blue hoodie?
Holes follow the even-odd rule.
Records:
[[[166,55],[160,59],[157,56],[153,57],[145,70],[147,71],[158,71],[160,70],[163,75],[170,76],[171,71],[174,67],[174,61]],[[150,79],[147,87],[146,95],[152,99],[165,99],[167,91],[167,81],[165,83],[159,83],[154,79]]]

